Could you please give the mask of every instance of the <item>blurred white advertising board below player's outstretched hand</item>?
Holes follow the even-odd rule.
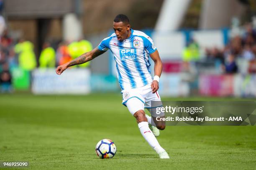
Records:
[[[55,69],[36,69],[32,72],[34,94],[87,94],[90,93],[90,70],[72,68],[57,75]]]

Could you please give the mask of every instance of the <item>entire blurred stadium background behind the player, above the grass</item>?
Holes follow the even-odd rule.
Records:
[[[35,94],[54,92],[73,94],[72,92],[76,93],[77,88],[79,92],[84,89],[83,94],[91,91],[117,92],[119,87],[115,77],[115,61],[108,52],[104,53],[100,60],[97,58],[91,63],[73,66],[73,68],[86,68],[92,65],[90,69],[82,70],[84,72],[89,70],[87,73],[76,69],[77,72],[70,74],[69,77],[54,77],[56,76],[54,71],[44,72],[41,68],[54,70],[56,66],[92,50],[103,38],[108,37],[110,32],[113,33],[111,25],[114,16],[119,12],[125,12],[131,19],[132,28],[144,29],[143,32],[153,38],[159,49],[163,61],[163,72],[159,82],[161,84],[159,90],[162,94],[256,96],[253,87],[256,82],[256,18],[253,13],[256,11],[256,3],[253,0],[225,2],[219,0],[218,2],[228,7],[233,5],[236,9],[243,9],[241,10],[243,13],[235,13],[237,11],[230,8],[226,12],[221,9],[214,11],[215,15],[212,15],[207,4],[216,5],[215,9],[217,9],[219,8],[217,1],[187,0],[189,1],[190,3],[187,4],[190,5],[187,7],[184,2],[179,3],[177,0],[170,6],[173,7],[173,11],[180,7],[176,11],[180,18],[173,15],[180,20],[176,22],[177,24],[172,23],[177,25],[177,28],[159,30],[157,23],[161,22],[157,20],[161,21],[165,5],[168,5],[167,2],[174,2],[172,0],[123,1],[127,5],[124,8],[121,8],[124,6],[123,2],[116,1],[116,11],[109,6],[110,0],[104,1],[105,3],[100,0],[97,2],[70,0],[70,3],[64,4],[65,7],[61,8],[59,7],[61,0],[54,2],[47,0],[42,2],[45,5],[42,9],[37,8],[38,5],[34,1],[26,0],[28,5],[24,6],[21,2],[9,0],[5,1],[7,17],[3,13],[3,0],[0,0],[0,90],[1,92],[31,90]],[[145,7],[141,8],[141,5]],[[82,6],[85,10],[79,9]],[[51,7],[57,10],[51,10]],[[111,17],[105,16],[105,13],[100,15],[93,10],[99,7],[101,7],[99,11],[107,10]],[[35,9],[39,10],[38,13]],[[246,10],[251,10],[250,15],[247,16]],[[49,14],[53,11],[56,13]],[[166,10],[165,15],[170,16],[169,11]],[[218,18],[219,13],[228,17],[222,18],[223,20],[211,18],[212,16]],[[17,16],[21,17],[16,19]],[[35,17],[30,19],[31,16]],[[246,19],[243,16],[246,16]],[[203,27],[204,18],[206,18],[205,22],[208,21],[207,18],[214,21],[212,24],[214,27],[211,22],[205,24],[208,25],[206,28]],[[102,22],[99,23],[99,20]],[[168,24],[167,21],[164,21],[164,25]],[[217,38],[214,37],[215,35]],[[84,40],[84,36],[87,40]],[[152,72],[153,69],[152,67]],[[82,81],[80,77],[75,76],[81,76],[86,80]],[[59,88],[59,84],[63,86],[63,90]],[[44,90],[40,91],[41,89]],[[55,91],[51,91],[52,89]]]

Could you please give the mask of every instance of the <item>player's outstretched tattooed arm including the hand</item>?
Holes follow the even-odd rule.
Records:
[[[70,62],[67,62],[66,64],[58,66],[56,69],[56,73],[58,75],[61,75],[61,73],[64,72],[64,70],[66,70],[68,67],[88,62],[88,61],[94,59],[95,57],[98,57],[99,55],[103,54],[104,52],[106,52],[106,51],[99,50],[99,48],[96,47],[92,51],[85,52],[84,54],[80,55],[76,59],[74,59]]]

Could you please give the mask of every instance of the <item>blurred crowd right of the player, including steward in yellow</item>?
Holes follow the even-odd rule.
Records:
[[[254,65],[256,62],[256,28],[251,23],[247,23],[240,28],[241,33],[230,32],[230,39],[223,48],[206,47],[200,49],[200,45],[196,40],[188,43],[183,51],[182,60],[212,62],[222,73],[239,72],[238,62],[243,60]],[[203,50],[202,53],[200,53]],[[256,69],[250,67],[248,73],[256,72]]]

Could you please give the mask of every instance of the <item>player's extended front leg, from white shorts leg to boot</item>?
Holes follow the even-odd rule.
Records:
[[[159,154],[160,158],[169,158],[166,151],[159,145],[156,137],[148,127],[148,120],[144,112],[144,103],[136,97],[129,99],[126,102],[126,106],[131,114],[136,118],[138,122],[138,128],[141,131],[141,135],[148,142],[148,144]]]

